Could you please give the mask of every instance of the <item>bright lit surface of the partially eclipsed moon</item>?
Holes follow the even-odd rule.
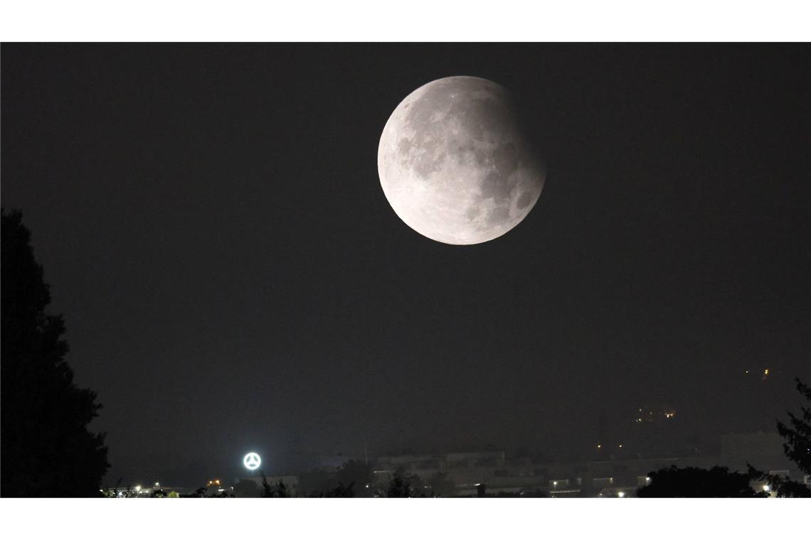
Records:
[[[538,201],[545,176],[509,92],[478,77],[439,79],[402,100],[380,136],[377,170],[400,219],[445,244],[508,232]]]

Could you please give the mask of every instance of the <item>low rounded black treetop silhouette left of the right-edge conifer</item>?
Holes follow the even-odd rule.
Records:
[[[652,472],[650,484],[637,490],[639,497],[759,497],[749,485],[749,474],[730,472],[726,467],[710,470],[670,466]]]

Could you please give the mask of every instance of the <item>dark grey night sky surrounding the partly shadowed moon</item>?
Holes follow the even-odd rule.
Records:
[[[4,44],[2,204],[111,481],[364,441],[565,457],[643,404],[770,430],[811,376],[809,52]],[[376,168],[397,104],[460,74],[515,92],[547,158],[530,215],[471,246],[402,223]]]

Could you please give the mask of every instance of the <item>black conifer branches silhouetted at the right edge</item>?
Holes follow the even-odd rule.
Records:
[[[809,402],[809,406],[800,405],[802,418],[798,418],[791,411],[786,411],[791,427],[777,421],[777,432],[783,439],[783,453],[793,461],[797,468],[805,474],[811,474],[811,388],[799,378],[795,378],[797,391]],[[755,469],[749,463],[749,475],[757,480],[766,482],[771,491],[778,497],[811,497],[811,489],[805,485],[786,478],[779,474],[767,474]]]

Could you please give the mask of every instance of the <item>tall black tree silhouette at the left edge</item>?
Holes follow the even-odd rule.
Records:
[[[73,383],[61,315],[45,313],[49,287],[19,212],[2,214],[2,477],[4,497],[101,495],[104,435],[88,432],[101,408]]]

